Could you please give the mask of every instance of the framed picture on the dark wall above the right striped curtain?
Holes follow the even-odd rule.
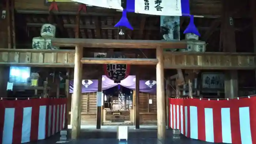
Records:
[[[224,73],[202,73],[202,88],[224,88],[225,75]]]

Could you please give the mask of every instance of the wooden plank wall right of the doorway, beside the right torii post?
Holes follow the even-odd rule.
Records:
[[[152,99],[152,104],[149,100]],[[140,92],[140,124],[157,124],[157,95]]]

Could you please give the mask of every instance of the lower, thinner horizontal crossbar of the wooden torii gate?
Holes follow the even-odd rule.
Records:
[[[83,64],[131,64],[131,65],[156,65],[158,60],[153,58],[82,58]]]

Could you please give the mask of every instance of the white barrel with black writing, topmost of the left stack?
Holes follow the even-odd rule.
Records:
[[[56,27],[52,24],[44,24],[41,28],[41,36],[43,38],[54,38]]]

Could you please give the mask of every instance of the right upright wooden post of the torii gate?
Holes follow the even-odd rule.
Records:
[[[157,48],[157,138],[165,139],[165,88],[163,77],[163,49]]]

